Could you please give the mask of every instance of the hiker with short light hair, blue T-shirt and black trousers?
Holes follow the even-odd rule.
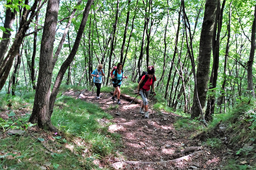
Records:
[[[102,68],[103,65],[99,64],[97,69],[95,69],[91,74],[91,76],[93,76],[93,83],[97,87],[97,100],[100,99],[102,76],[105,76],[104,70]]]

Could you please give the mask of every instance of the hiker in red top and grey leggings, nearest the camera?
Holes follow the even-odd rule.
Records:
[[[146,75],[143,75],[141,80],[139,81],[139,84],[138,84],[138,92],[139,94],[138,95],[141,95],[142,97],[142,105],[141,105],[141,108],[139,110],[139,112],[141,114],[144,114],[144,111],[143,109],[145,110],[145,118],[148,118],[148,95],[150,94],[150,86],[152,87],[151,88],[151,92],[155,94],[155,87],[154,87],[154,83],[153,83],[153,78],[154,78],[154,82],[156,80],[155,78],[155,69],[154,69],[154,66],[148,66],[147,67],[147,74]],[[146,82],[143,82],[145,80],[145,77],[148,76]],[[143,85],[144,84],[144,85]],[[143,87],[141,87],[143,85]]]

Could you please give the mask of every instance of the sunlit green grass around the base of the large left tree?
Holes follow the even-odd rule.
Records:
[[[18,113],[27,106],[30,112],[26,112],[31,113],[33,97],[32,93],[24,97],[4,95],[1,109]],[[10,102],[13,107],[8,105]],[[0,131],[31,129],[27,124],[28,113],[16,114],[19,120],[13,116],[1,119]],[[22,135],[1,138],[0,169],[100,169],[93,160],[115,154],[114,148],[119,145],[113,141],[120,136],[108,132],[110,119],[112,116],[97,105],[60,95],[51,118],[60,134],[32,131],[31,135],[27,130]]]

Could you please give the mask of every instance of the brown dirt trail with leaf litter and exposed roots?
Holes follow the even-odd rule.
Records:
[[[65,92],[65,95],[77,96],[77,92]],[[154,98],[148,104],[149,118],[139,113],[140,104],[125,100],[121,96],[121,105],[111,100],[112,95],[83,91],[77,98],[99,105],[113,116],[111,133],[121,135],[121,145],[117,156],[104,158],[101,166],[111,165],[113,169],[222,169],[225,165],[226,151],[216,150],[191,138],[196,131],[175,129],[174,123],[181,118],[174,113],[154,111]],[[141,99],[141,97],[137,97]],[[226,156],[224,156],[226,155]]]

